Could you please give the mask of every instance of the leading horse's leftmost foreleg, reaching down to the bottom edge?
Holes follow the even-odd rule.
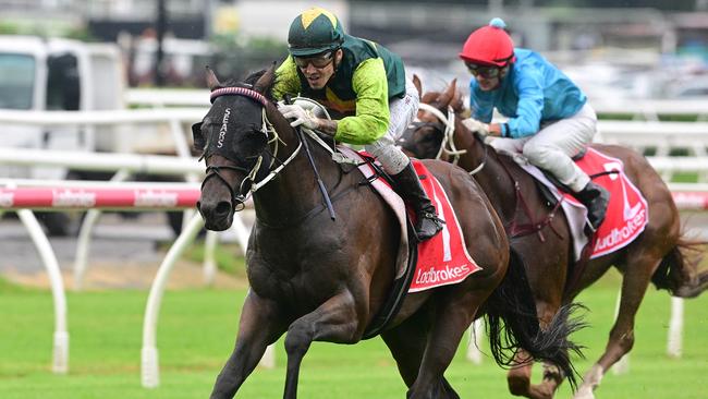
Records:
[[[284,325],[274,323],[278,319],[274,303],[249,291],[241,312],[234,350],[217,377],[211,399],[233,398],[263,358],[266,347],[285,330]]]

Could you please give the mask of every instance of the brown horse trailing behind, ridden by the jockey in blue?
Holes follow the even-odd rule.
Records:
[[[419,80],[415,81],[418,92],[423,93]],[[642,155],[621,146],[594,144],[594,148],[624,162],[625,173],[647,200],[649,222],[644,232],[624,249],[584,265],[574,264],[565,215],[552,213],[553,205],[510,156],[498,154],[485,144],[483,137],[471,133],[461,123],[464,107],[455,82],[442,93],[426,93],[422,104],[428,104],[432,109],[426,111],[422,106],[419,122],[404,133],[402,147],[419,158],[447,154],[449,160],[455,159],[459,166],[474,174],[504,226],[525,227],[525,233],[510,234],[510,244],[527,267],[526,275],[541,321],[550,321],[560,306],[572,301],[611,266],[623,275],[619,314],[607,348],[587,372],[575,395],[575,398],[593,398],[603,374],[634,344],[634,318],[649,282],[683,298],[697,297],[708,287],[708,271],[698,273],[695,258],[691,259],[694,262],[686,258],[686,251],[693,250],[692,254],[696,255],[700,243],[682,235],[671,192]],[[449,114],[449,109],[454,113]],[[525,356],[523,353],[520,355]],[[532,385],[532,366],[533,363],[527,362],[509,372],[511,392],[529,398],[551,398],[563,380],[563,373],[546,367],[542,382]]]

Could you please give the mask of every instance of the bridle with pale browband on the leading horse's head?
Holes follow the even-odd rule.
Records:
[[[288,166],[288,164],[290,164],[295,158],[295,156],[297,156],[300,149],[303,146],[303,142],[300,142],[297,148],[293,150],[288,159],[284,161],[279,161],[277,158],[279,148],[278,143],[282,143],[283,145],[285,145],[285,143],[280,140],[278,132],[273,128],[270,120],[268,120],[268,116],[266,114],[266,108],[270,104],[268,99],[266,99],[263,94],[247,87],[221,87],[211,92],[211,104],[213,104],[213,101],[221,96],[243,96],[260,104],[263,106],[260,132],[266,136],[267,140],[267,146],[263,149],[263,152],[270,148],[271,144],[273,145],[273,150],[271,152],[271,161],[268,166],[268,174],[259,181],[256,181],[256,178],[258,171],[260,170],[260,167],[263,166],[263,152],[257,157],[254,157],[255,160],[249,167],[242,167],[237,165],[207,166],[206,177],[202,182],[202,188],[204,188],[204,184],[207,182],[207,180],[212,177],[217,177],[217,179],[219,179],[219,181],[221,181],[231,193],[231,206],[233,210],[241,210],[243,209],[244,203],[248,200],[249,195],[271,181],[278,173],[283,170],[283,168],[285,168],[285,166]],[[205,156],[206,153],[202,155],[202,158],[205,158]],[[280,165],[273,168],[276,161],[278,161]],[[241,181],[239,190],[232,186],[229,181],[223,176],[221,176],[221,173],[219,173],[221,170],[235,170],[246,174],[246,177]]]

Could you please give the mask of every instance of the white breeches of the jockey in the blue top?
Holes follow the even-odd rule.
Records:
[[[593,142],[597,114],[585,104],[574,116],[541,123],[538,133],[522,138],[495,138],[491,146],[510,154],[523,154],[532,164],[552,173],[574,192],[582,191],[590,178],[571,159]]]

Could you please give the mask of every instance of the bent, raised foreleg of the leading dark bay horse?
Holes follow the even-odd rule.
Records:
[[[354,297],[349,291],[330,298],[314,312],[293,322],[285,336],[288,374],[283,398],[297,397],[300,366],[313,341],[354,343],[359,339],[358,327]]]

